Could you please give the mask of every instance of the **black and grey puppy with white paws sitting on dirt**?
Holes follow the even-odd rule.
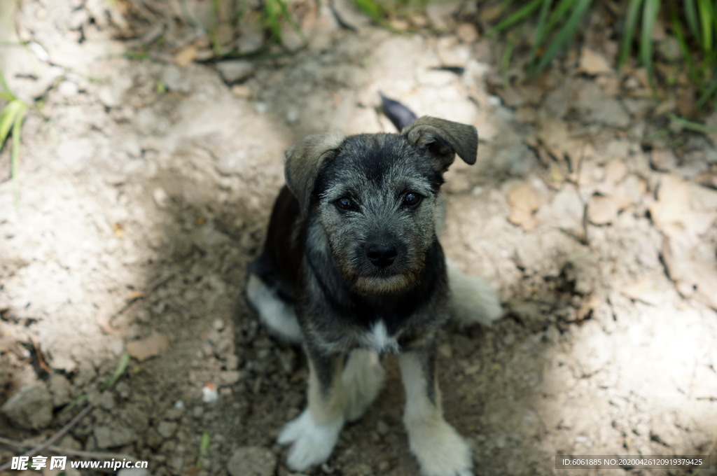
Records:
[[[455,155],[475,163],[478,131],[428,116],[410,122],[400,133],[310,135],[285,154],[286,185],[250,264],[247,298],[308,358],[307,407],[277,439],[292,444],[292,470],[328,460],[343,425],[379,395],[380,357],[390,353],[422,474],[473,474],[470,445],[443,417],[436,353],[450,315],[488,324],[502,313],[490,286],[447,264],[438,241],[443,175]]]

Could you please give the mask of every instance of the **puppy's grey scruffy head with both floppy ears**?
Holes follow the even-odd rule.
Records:
[[[315,210],[334,260],[356,292],[417,282],[435,241],[443,173],[473,164],[471,125],[423,117],[400,134],[311,135],[286,153],[286,181],[302,214]]]

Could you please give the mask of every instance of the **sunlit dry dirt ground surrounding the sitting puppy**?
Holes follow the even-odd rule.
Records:
[[[247,309],[245,267],[283,151],[392,131],[380,89],[481,138],[478,164],[447,174],[442,243],[506,314],[447,329],[439,358],[476,474],[599,473],[556,470],[556,454],[711,454],[709,470],[604,472],[717,475],[717,134],[655,119],[675,98],[613,70],[599,16],[528,81],[447,5],[424,16],[434,33],[394,34],[327,4],[308,48],[232,79],[231,65],[130,58],[113,4],[4,2],[0,69],[44,106],[22,130],[19,204],[0,155],[0,465],[88,401],[61,454],[125,454],[155,476],[292,474],[275,437],[305,404],[305,361]],[[417,474],[386,365],[379,401],[308,474]]]

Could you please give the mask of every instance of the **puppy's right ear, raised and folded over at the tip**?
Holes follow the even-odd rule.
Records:
[[[470,165],[475,163],[478,156],[478,130],[473,125],[424,115],[404,130],[402,135],[410,143],[428,148],[438,158],[444,171],[453,163],[455,154]]]

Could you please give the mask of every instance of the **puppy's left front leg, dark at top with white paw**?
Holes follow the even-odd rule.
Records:
[[[346,395],[341,381],[343,355],[326,356],[307,348],[309,361],[308,406],[286,424],[279,444],[293,443],[286,460],[296,471],[328,460],[344,422]]]

